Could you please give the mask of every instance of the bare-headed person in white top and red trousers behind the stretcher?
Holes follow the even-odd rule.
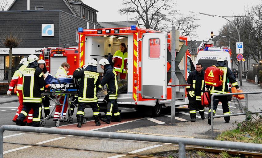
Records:
[[[59,67],[59,69],[56,71],[55,77],[57,79],[62,78],[62,77],[68,77],[68,69],[69,69],[70,65],[67,62],[64,62],[61,64],[61,66]],[[64,100],[64,94],[62,95],[61,99],[59,100],[59,102],[61,104],[63,104],[63,100]],[[66,122],[65,120],[65,115],[66,115],[66,111],[68,108],[68,102],[65,101],[65,105],[64,105],[64,110],[62,111],[62,105],[56,105],[55,106],[55,115],[54,115],[54,122],[56,122],[59,119],[59,115],[60,112],[62,112],[62,120],[63,122]]]

